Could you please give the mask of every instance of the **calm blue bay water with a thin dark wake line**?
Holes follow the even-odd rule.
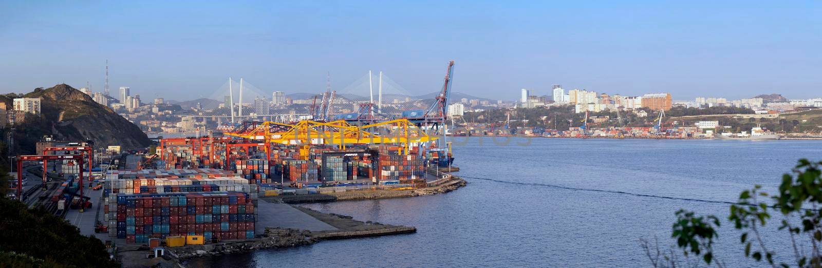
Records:
[[[463,141],[456,137],[456,141]],[[496,141],[502,143],[503,138]],[[459,142],[455,142],[459,143]],[[518,146],[517,144],[529,144]],[[454,154],[467,187],[435,196],[303,206],[418,233],[316,243],[191,261],[191,266],[649,266],[639,238],[669,238],[680,208],[723,219],[718,257],[746,259],[726,220],[741,190],[769,192],[820,141],[657,141],[471,137]],[[763,231],[790,250],[774,224]]]

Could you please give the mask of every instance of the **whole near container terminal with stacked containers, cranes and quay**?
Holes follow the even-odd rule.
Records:
[[[391,115],[369,103],[359,113],[330,115],[322,108],[329,99],[312,106],[312,118],[242,122],[207,136],[163,138],[150,153],[132,150],[105,159],[82,142],[38,146],[41,155],[16,158],[16,198],[62,215],[84,235],[95,234],[113,257],[127,258],[123,263],[142,263],[146,249],[159,256],[167,250],[176,255],[178,248],[178,257],[189,257],[202,255],[191,254],[192,248],[219,254],[210,244],[304,244],[290,243],[293,237],[282,233],[308,232],[303,241],[316,242],[414,232],[323,215],[284,199],[418,196],[463,186],[464,180],[446,173],[458,170],[446,141],[453,66],[449,62],[441,93],[427,110]]]

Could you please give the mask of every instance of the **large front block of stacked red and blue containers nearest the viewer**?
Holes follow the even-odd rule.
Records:
[[[113,194],[111,226],[126,243],[150,238],[203,235],[206,241],[252,239],[256,214],[253,196],[242,192]]]

